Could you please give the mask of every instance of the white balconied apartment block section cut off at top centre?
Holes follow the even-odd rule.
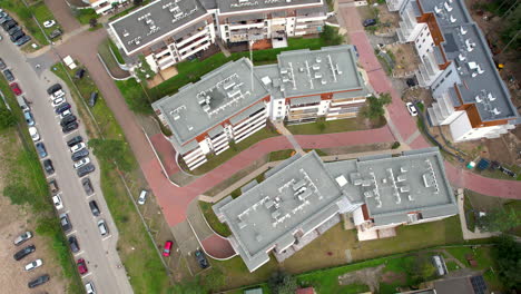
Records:
[[[219,36],[225,42],[320,33],[327,18],[324,0],[217,0]]]

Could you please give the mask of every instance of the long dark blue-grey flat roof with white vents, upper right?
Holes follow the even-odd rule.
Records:
[[[492,52],[463,0],[420,0],[424,12],[432,12],[442,31],[445,56],[454,60],[462,85],[464,104],[474,104],[482,121],[518,116],[511,96],[495,69]]]

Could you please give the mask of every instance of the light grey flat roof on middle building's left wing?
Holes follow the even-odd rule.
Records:
[[[230,61],[188,84],[173,96],[153,104],[159,109],[180,145],[256,104],[268,91],[254,74],[249,59]]]

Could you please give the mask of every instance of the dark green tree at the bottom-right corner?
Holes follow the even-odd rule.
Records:
[[[521,288],[521,244],[502,235],[492,251],[498,265],[498,276],[507,288]]]

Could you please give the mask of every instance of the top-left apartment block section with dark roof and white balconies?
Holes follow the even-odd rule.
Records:
[[[212,13],[198,0],[153,1],[108,26],[128,63],[144,55],[155,72],[208,49],[216,38]]]

